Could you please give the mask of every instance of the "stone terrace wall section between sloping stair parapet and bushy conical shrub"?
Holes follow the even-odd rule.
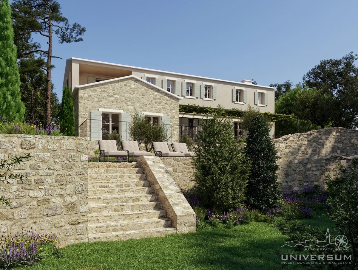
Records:
[[[190,157],[160,157],[171,177],[185,190],[194,186],[194,169]]]

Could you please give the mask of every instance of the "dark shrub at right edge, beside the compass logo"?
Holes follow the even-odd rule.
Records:
[[[339,176],[325,177],[327,183],[329,217],[344,232],[352,246],[352,269],[358,265],[358,158],[348,166],[338,165]]]

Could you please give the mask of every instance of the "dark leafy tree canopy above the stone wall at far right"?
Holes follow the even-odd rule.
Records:
[[[326,103],[318,105],[324,109],[319,116],[315,115],[316,110],[303,106],[306,119],[321,127],[358,127],[358,68],[354,65],[357,59],[358,55],[350,52],[341,59],[321,60],[303,76],[304,84],[315,90],[302,97],[301,105],[312,99]]]

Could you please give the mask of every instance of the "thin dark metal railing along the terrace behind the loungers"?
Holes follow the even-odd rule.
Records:
[[[102,125],[103,124],[103,125]],[[112,129],[115,129],[120,134],[122,141],[130,141],[130,126],[132,122],[119,122],[118,124],[112,124]],[[168,142],[178,142],[180,136],[187,135],[194,141],[197,138],[197,132],[201,130],[199,126],[183,126],[183,125],[172,125],[172,124],[161,124],[165,125],[168,129],[169,140]],[[108,130],[107,130],[108,126]],[[89,137],[89,140],[98,141],[105,138],[109,134],[109,123],[102,123],[101,120],[86,119],[78,127],[78,136]]]

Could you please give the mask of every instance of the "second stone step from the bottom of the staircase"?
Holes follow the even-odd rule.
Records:
[[[89,224],[88,235],[104,234],[110,232],[125,232],[134,230],[148,230],[163,227],[170,227],[171,220],[162,217],[160,219],[124,221],[124,222],[108,222],[105,224]]]

